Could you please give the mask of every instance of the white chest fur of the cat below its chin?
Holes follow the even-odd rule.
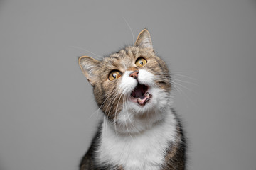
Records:
[[[117,135],[107,121],[102,124],[98,161],[122,165],[124,169],[160,169],[170,142],[176,136],[176,119],[171,111],[151,129],[137,135]]]

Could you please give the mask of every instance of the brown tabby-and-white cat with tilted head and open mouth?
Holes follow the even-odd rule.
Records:
[[[78,61],[104,113],[80,170],[185,169],[186,142],[171,107],[171,76],[149,31],[102,60]]]

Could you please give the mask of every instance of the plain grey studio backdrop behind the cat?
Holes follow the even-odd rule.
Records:
[[[188,169],[255,170],[252,0],[0,1],[0,169],[77,169],[97,126],[78,56],[131,45],[126,21],[174,73]]]

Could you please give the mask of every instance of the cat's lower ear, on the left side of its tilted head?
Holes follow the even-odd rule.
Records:
[[[96,83],[97,77],[97,68],[99,67],[100,62],[88,56],[81,56],[78,59],[82,73],[85,74],[85,77],[90,82],[92,86]]]

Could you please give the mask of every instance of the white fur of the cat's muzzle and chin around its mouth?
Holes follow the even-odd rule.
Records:
[[[160,89],[158,86],[155,85],[154,82],[154,74],[151,74],[150,72],[147,72],[146,69],[139,69],[138,73],[138,82],[139,84],[144,84],[149,87],[148,92],[152,95],[151,100],[146,103],[144,107],[139,106],[137,103],[132,102],[129,100],[130,94],[132,90],[137,86],[137,80],[133,77],[129,77],[129,74],[131,74],[132,71],[124,72],[124,75],[122,76],[122,81],[119,84],[119,89],[121,89],[122,94],[124,96],[127,96],[127,101],[124,102],[123,111],[121,111],[118,114],[119,121],[124,120],[124,117],[129,120],[133,117],[134,114],[142,115],[144,113],[152,113],[151,115],[156,115],[155,113],[158,113],[159,111],[162,111],[170,106],[170,94],[167,91],[164,91],[164,89]],[[129,114],[127,114],[128,112]],[[127,115],[125,115],[127,114]],[[159,117],[159,115],[158,115]],[[147,121],[158,121],[159,118],[148,119]]]

